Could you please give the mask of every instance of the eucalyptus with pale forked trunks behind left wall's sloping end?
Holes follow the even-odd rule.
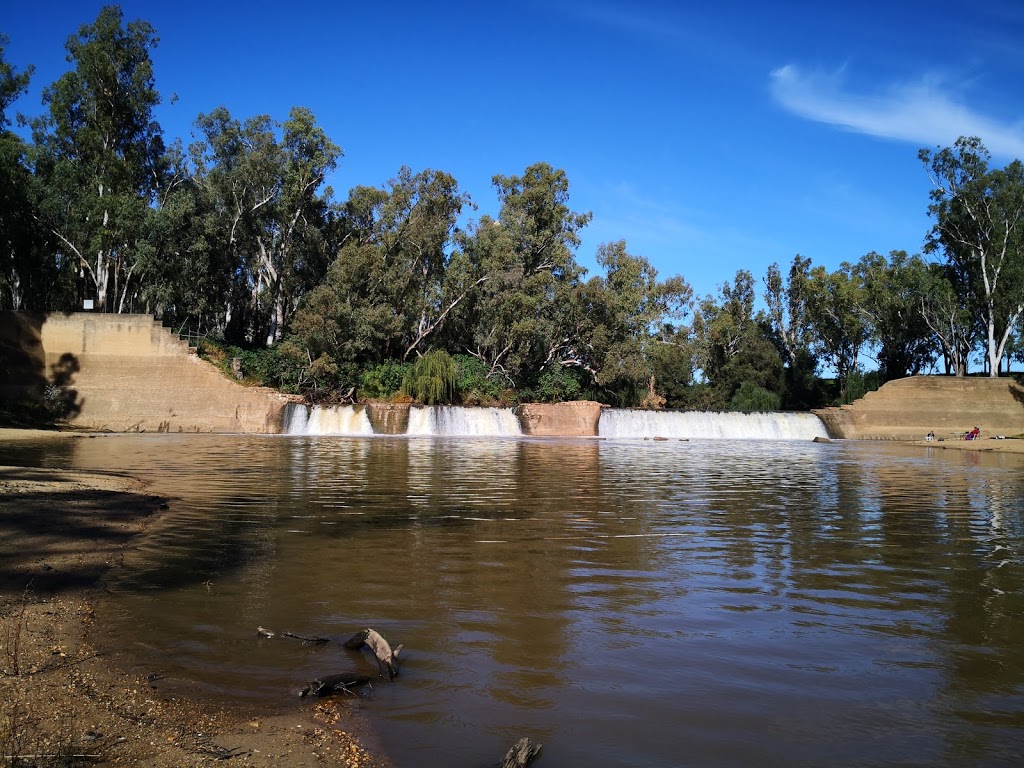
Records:
[[[341,150],[302,106],[283,124],[266,115],[240,122],[220,106],[196,127],[196,183],[217,213],[237,275],[225,325],[269,346],[330,263],[332,190],[325,183]]]

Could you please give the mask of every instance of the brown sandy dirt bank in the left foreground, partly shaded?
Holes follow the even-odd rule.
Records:
[[[117,667],[95,598],[162,504],[124,476],[0,467],[0,763],[386,766],[344,702],[227,712]]]

